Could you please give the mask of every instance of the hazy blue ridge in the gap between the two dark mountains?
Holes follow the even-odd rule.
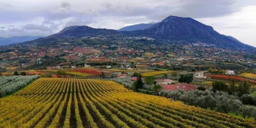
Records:
[[[135,31],[135,30],[142,30],[142,29],[146,29],[149,28],[151,26],[155,25],[155,23],[151,23],[151,24],[135,24],[135,25],[131,25],[131,26],[126,26],[124,28],[120,28],[117,29],[117,31]]]

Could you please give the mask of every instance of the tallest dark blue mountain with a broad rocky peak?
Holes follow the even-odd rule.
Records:
[[[148,36],[172,42],[203,42],[217,46],[232,48],[253,48],[243,44],[231,36],[221,35],[211,26],[205,25],[192,18],[169,16],[155,25],[136,31],[125,32],[128,35]]]

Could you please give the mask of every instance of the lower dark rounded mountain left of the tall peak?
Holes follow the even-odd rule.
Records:
[[[88,26],[69,26],[61,30],[59,33],[47,37],[63,37],[63,36],[95,36],[95,35],[114,35],[119,34],[118,31],[106,28],[92,28]]]

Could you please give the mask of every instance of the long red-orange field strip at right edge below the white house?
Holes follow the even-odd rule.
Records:
[[[251,83],[251,84],[256,84],[256,81],[255,80],[250,80],[250,79],[246,79],[244,77],[241,77],[241,76],[229,76],[229,75],[205,75],[205,76],[209,76],[209,77],[212,77],[212,78],[215,78],[215,79],[222,79],[222,80],[232,80],[234,79],[235,81],[246,81],[248,83]]]

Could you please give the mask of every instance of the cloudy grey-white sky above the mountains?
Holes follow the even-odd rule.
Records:
[[[49,36],[72,25],[118,29],[191,17],[256,46],[256,0],[0,0],[0,37]]]

